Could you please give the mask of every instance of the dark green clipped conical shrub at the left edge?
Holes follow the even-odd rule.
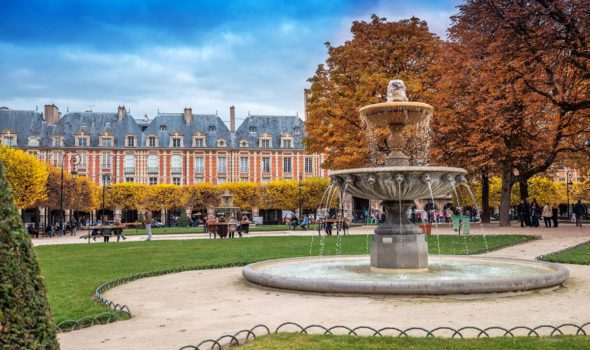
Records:
[[[0,162],[0,344],[59,349],[39,263]]]

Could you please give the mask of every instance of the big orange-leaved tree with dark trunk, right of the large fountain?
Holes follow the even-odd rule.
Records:
[[[470,0],[438,69],[434,154],[502,178],[510,192],[565,154],[590,154],[590,4]]]

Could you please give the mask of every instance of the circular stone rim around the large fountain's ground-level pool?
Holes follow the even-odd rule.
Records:
[[[554,287],[564,283],[569,277],[569,270],[560,264],[524,259],[491,258],[476,256],[439,255],[436,258],[449,260],[485,260],[505,264],[535,265],[547,268],[547,273],[536,276],[489,278],[485,280],[433,280],[433,281],[358,281],[345,279],[298,278],[277,276],[258,271],[263,265],[297,261],[334,261],[341,259],[359,259],[359,255],[342,255],[329,257],[299,257],[266,260],[249,264],[242,269],[244,278],[264,287],[315,293],[345,294],[391,294],[391,295],[457,295],[488,294],[506,292],[524,292]],[[364,256],[362,256],[364,257]]]

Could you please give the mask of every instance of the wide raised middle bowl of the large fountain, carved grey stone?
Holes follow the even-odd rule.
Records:
[[[388,166],[338,170],[330,178],[346,193],[358,198],[413,201],[449,194],[465,174],[464,169],[452,167]],[[403,181],[398,185],[398,180]]]

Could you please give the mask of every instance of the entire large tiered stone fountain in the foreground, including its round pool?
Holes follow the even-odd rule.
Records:
[[[405,126],[433,112],[409,102],[405,85],[392,80],[387,102],[365,106],[360,114],[370,131],[387,127],[390,154],[384,166],[332,172],[332,183],[346,193],[381,200],[386,221],[375,229],[370,259],[358,256],[294,258],[251,264],[244,277],[263,286],[313,292],[362,294],[470,294],[534,290],[559,285],[569,272],[557,264],[516,259],[439,256],[429,263],[425,235],[406,215],[416,199],[446,196],[465,182],[464,169],[410,166],[403,153]]]

